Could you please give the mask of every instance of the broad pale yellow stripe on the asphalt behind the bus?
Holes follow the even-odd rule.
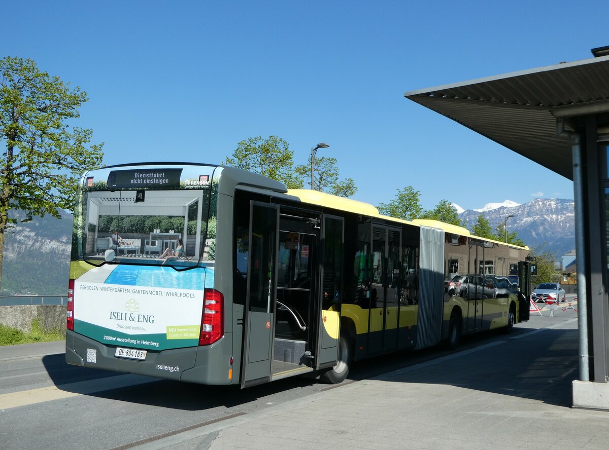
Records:
[[[38,389],[21,390],[0,395],[0,409],[10,409],[45,401],[86,395],[104,390],[120,389],[121,387],[137,384],[152,383],[158,378],[142,375],[117,375],[106,378],[77,381],[76,383],[60,384],[58,386],[40,387]]]

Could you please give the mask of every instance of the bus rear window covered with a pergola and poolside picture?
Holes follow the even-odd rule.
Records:
[[[210,209],[216,202],[210,202],[211,192],[209,188],[85,190],[80,257],[95,265],[209,263],[214,260],[216,238],[215,208]]]

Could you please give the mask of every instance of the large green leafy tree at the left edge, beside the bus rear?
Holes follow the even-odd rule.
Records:
[[[60,218],[72,209],[83,171],[102,164],[102,144],[88,146],[93,131],[68,125],[80,116],[86,92],[41,72],[32,60],[0,60],[0,274],[4,234],[16,210]],[[1,275],[0,275],[1,276]],[[1,278],[0,278],[1,282]]]

